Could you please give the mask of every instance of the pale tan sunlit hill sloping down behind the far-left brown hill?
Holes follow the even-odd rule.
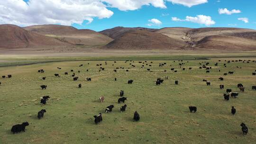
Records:
[[[38,25],[24,27],[24,29],[74,45],[99,46],[106,45],[113,40],[90,29],[76,29],[70,26]]]

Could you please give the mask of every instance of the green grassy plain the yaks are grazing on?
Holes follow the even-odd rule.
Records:
[[[0,76],[12,74],[13,77],[0,78],[0,144],[255,144],[256,91],[251,90],[251,86],[256,85],[256,76],[251,73],[255,71],[256,63],[229,63],[227,68],[223,67],[223,63],[224,59],[256,58],[211,58],[190,60],[189,63],[183,61],[186,63],[185,71],[178,66],[182,62],[174,63],[167,56],[161,60],[156,58],[160,59],[150,56],[121,58],[151,59],[153,63],[150,69],[153,72],[146,71],[146,63],[145,68],[140,68],[138,61],[108,61],[107,65],[104,64],[105,61],[91,61],[103,58],[91,58],[90,61],[75,61],[86,60],[75,58],[71,62],[24,66],[2,63],[9,67],[0,67]],[[193,56],[171,58],[191,59]],[[115,59],[117,58],[108,58]],[[219,59],[222,60],[219,66],[214,67]],[[23,60],[32,61],[26,58]],[[43,60],[35,58],[33,61]],[[198,69],[201,61],[210,62],[213,68],[209,74]],[[99,72],[99,67],[96,66],[99,63],[102,63],[105,71]],[[136,67],[131,67],[129,63]],[[167,65],[159,67],[159,63]],[[84,66],[78,67],[80,64]],[[113,72],[120,66],[125,69]],[[241,66],[242,69],[236,66]],[[131,67],[129,72],[125,72],[128,67]],[[178,72],[170,71],[172,67]],[[188,70],[189,67],[193,69]],[[38,73],[38,69],[46,72]],[[79,77],[78,81],[73,81],[71,69]],[[221,72],[218,72],[219,69]],[[224,72],[234,69],[236,71],[233,75],[223,76]],[[65,76],[64,72],[69,72],[69,75]],[[61,74],[61,77],[55,77],[54,73]],[[46,81],[41,80],[43,76],[46,76]],[[165,76],[169,76],[169,80],[156,86],[156,78]],[[85,81],[87,77],[91,77],[92,81]],[[219,81],[219,77],[223,77],[224,81]],[[114,81],[114,78],[118,81]],[[134,83],[127,84],[129,79],[133,79]],[[206,86],[202,79],[210,81],[211,86]],[[174,85],[175,80],[179,81],[179,85]],[[82,84],[82,89],[78,89],[79,83]],[[222,83],[225,85],[224,90],[219,89],[219,84]],[[238,99],[224,101],[225,90],[231,88],[239,91],[236,87],[238,83],[243,83],[246,91],[240,92]],[[48,86],[46,90],[40,89],[42,84]],[[123,113],[120,113],[119,108],[124,104],[117,103],[120,90],[124,90],[125,97],[128,98],[125,102],[128,107]],[[51,97],[45,106],[39,103],[43,95]],[[101,95],[105,96],[103,103],[98,101]],[[115,106],[113,112],[105,114],[104,109],[111,104]],[[198,111],[190,113],[188,106],[197,106]],[[231,106],[237,108],[236,116],[230,114]],[[44,118],[38,120],[37,112],[41,109],[46,109],[47,112]],[[135,110],[140,114],[139,122],[133,122]],[[103,113],[103,121],[95,125],[93,116],[100,112]],[[10,133],[11,126],[24,121],[30,124],[25,133]],[[241,122],[246,123],[249,128],[246,137],[242,135]]]

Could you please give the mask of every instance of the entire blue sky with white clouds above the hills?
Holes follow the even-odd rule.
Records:
[[[0,0],[0,24],[256,29],[256,0]]]

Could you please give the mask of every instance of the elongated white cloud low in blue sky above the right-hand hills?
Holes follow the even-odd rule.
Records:
[[[186,19],[180,19],[177,17],[173,17],[172,20],[173,21],[189,21],[189,22],[193,22],[193,23],[202,24],[207,27],[215,24],[215,21],[212,20],[210,16],[204,16],[204,15],[197,15],[196,17],[187,16]]]

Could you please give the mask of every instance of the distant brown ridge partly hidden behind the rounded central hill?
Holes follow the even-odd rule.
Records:
[[[118,39],[126,33],[134,32],[138,30],[146,30],[146,31],[156,31],[157,29],[145,28],[145,27],[114,27],[110,29],[106,29],[101,31],[100,33],[106,36],[109,36],[113,39]]]

